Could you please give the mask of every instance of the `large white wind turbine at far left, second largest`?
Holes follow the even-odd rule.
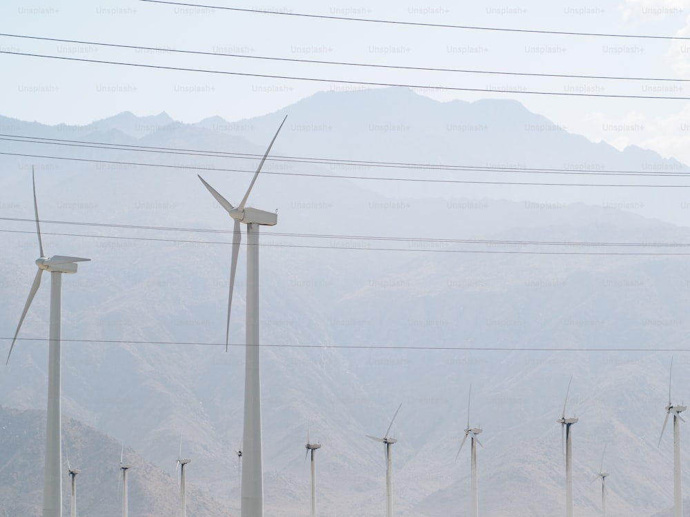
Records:
[[[62,515],[62,429],[60,409],[60,349],[61,349],[61,303],[62,303],[62,274],[76,273],[77,262],[90,261],[77,256],[54,255],[50,259],[43,253],[41,240],[41,225],[39,224],[39,209],[36,202],[36,179],[33,168],[31,179],[34,190],[34,216],[36,219],[36,234],[39,239],[41,256],[36,259],[39,270],[34,276],[29,296],[24,304],[24,310],[19,318],[19,325],[14,332],[10,352],[7,354],[6,364],[10,363],[10,354],[17,341],[21,324],[26,317],[31,302],[41,285],[43,271],[50,272],[50,345],[48,349],[48,409],[46,411],[46,460],[43,470],[43,517],[61,517]]]

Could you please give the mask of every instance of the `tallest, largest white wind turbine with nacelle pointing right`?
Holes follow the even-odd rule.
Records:
[[[285,117],[287,119],[287,116]],[[257,208],[247,207],[247,199],[257,181],[257,176],[264,166],[266,156],[273,147],[280,129],[285,123],[283,119],[280,127],[270,141],[266,154],[259,163],[259,168],[249,184],[244,198],[239,206],[233,207],[227,199],[221,196],[213,187],[199,176],[201,183],[213,194],[216,201],[227,210],[235,220],[233,231],[233,255],[230,263],[230,294],[228,295],[228,323],[226,326],[225,343],[228,349],[230,335],[230,309],[233,305],[233,287],[235,285],[235,271],[237,270],[237,256],[239,243],[242,241],[240,223],[247,225],[247,298],[246,298],[246,360],[244,376],[244,468],[242,469],[242,517],[263,517],[264,515],[264,472],[262,460],[262,426],[261,426],[261,381],[259,375],[259,226],[273,226],[278,222],[278,214],[266,212]]]

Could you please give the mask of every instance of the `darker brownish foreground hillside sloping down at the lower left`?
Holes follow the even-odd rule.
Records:
[[[43,453],[45,451],[45,414],[19,412],[0,407],[0,496],[3,516],[40,516],[43,497]],[[128,509],[132,515],[177,515],[179,487],[175,477],[161,470],[129,447],[72,418],[63,418],[63,514],[69,515],[72,502],[70,466],[77,474],[77,514],[118,516],[122,514],[120,455],[132,465],[128,471]],[[187,494],[190,515],[228,515],[208,494],[197,489],[190,479],[194,466],[187,467]]]

